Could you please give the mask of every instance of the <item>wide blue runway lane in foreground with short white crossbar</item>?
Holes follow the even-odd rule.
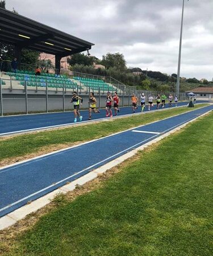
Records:
[[[206,106],[0,168],[0,217],[212,109]]]

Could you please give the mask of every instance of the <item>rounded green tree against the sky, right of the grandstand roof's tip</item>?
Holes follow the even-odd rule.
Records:
[[[118,71],[124,71],[127,69],[126,60],[122,53],[107,53],[107,55],[102,56],[101,64],[106,68],[115,68]]]

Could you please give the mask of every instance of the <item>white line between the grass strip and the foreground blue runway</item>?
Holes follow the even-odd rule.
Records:
[[[169,119],[169,118],[173,118],[173,117],[178,117],[179,115],[183,115],[183,114],[187,114],[187,113],[191,113],[191,112],[194,112],[196,110],[200,110],[200,109],[203,109],[203,108],[207,108],[208,106],[204,106],[202,108],[199,108],[199,109],[194,109],[194,110],[190,110],[189,112],[185,112],[185,113],[181,113],[181,114],[177,114],[177,115],[173,115],[172,117],[166,117],[164,119],[161,119],[161,120],[157,120],[157,121],[154,121],[154,122],[151,122],[151,123],[146,123],[145,125],[151,125],[152,123],[157,123],[157,122],[160,122],[160,121],[164,121],[166,119]],[[140,114],[140,113],[139,113]],[[111,134],[111,135],[107,135],[106,137],[103,137],[103,138],[99,138],[99,139],[93,139],[92,141],[87,141],[87,142],[83,142],[81,144],[77,144],[75,146],[72,146],[72,147],[67,147],[67,148],[63,148],[61,150],[57,150],[57,151],[54,151],[54,152],[51,152],[51,153],[48,153],[48,154],[44,154],[44,155],[40,155],[40,156],[35,156],[35,158],[30,158],[30,159],[27,159],[27,160],[23,160],[19,163],[14,163],[14,164],[9,164],[7,166],[4,166],[4,167],[1,167],[0,170],[3,170],[3,169],[6,169],[6,168],[10,168],[10,167],[13,167],[13,166],[18,166],[18,165],[21,165],[23,163],[26,163],[26,162],[31,162],[33,160],[36,160],[36,159],[40,159],[40,158],[45,158],[46,156],[49,156],[49,155],[57,155],[58,153],[62,152],[62,151],[67,151],[67,150],[70,150],[72,148],[75,148],[75,147],[80,147],[80,146],[83,146],[85,144],[88,144],[88,143],[92,143],[92,142],[96,142],[96,141],[100,141],[100,140],[103,140],[103,139],[106,139],[108,137],[112,137],[112,136],[115,136],[115,135],[118,135],[118,134],[121,134],[121,133],[126,133],[126,131],[131,131],[133,129],[137,129],[137,128],[140,128],[140,127],[143,127],[145,125],[140,125],[140,126],[136,126],[134,128],[130,128],[130,129],[127,129],[127,130],[124,130],[124,131],[119,131],[118,133],[114,133],[114,134]],[[9,171],[11,169],[7,169],[5,171]],[[3,171],[3,172],[5,172]],[[2,172],[0,172],[1,174]]]

